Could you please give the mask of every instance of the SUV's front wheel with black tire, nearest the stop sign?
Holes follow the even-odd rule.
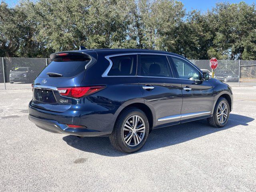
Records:
[[[223,104],[224,103],[224,104]],[[220,104],[222,104],[222,106],[224,106],[226,104],[226,110],[224,110],[223,115],[220,115]],[[226,116],[225,116],[226,114]],[[224,97],[220,97],[218,99],[218,101],[216,102],[216,105],[214,107],[214,112],[213,112],[213,116],[207,118],[208,123],[210,124],[210,126],[215,127],[215,128],[222,128],[224,127],[227,122],[228,122],[228,118],[229,118],[229,114],[230,114],[230,106],[228,103],[228,100],[226,100],[226,98]],[[218,117],[218,115],[220,117]],[[222,117],[221,117],[222,116]],[[226,119],[225,119],[226,117]],[[220,118],[220,119],[219,119]],[[223,119],[222,119],[223,118]],[[222,120],[224,122],[222,122]]]

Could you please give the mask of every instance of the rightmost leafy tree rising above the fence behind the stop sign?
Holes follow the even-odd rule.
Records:
[[[213,46],[208,53],[231,60],[242,59],[248,38],[256,29],[255,4],[217,3],[207,16],[214,32]]]

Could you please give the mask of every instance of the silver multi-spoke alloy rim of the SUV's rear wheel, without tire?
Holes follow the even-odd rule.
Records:
[[[127,145],[137,146],[145,136],[144,120],[138,116],[130,116],[123,127],[123,138]]]

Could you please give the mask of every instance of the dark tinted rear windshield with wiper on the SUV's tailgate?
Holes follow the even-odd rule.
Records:
[[[90,59],[77,56],[56,58],[42,70],[39,77],[49,77],[49,72],[62,74],[62,77],[74,77],[85,70],[88,62]]]

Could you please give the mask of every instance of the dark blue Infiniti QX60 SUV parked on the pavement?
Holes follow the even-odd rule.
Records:
[[[226,125],[230,86],[186,58],[162,51],[98,49],[59,52],[33,83],[29,119],[44,130],[109,136],[138,151],[156,128],[207,118]]]

